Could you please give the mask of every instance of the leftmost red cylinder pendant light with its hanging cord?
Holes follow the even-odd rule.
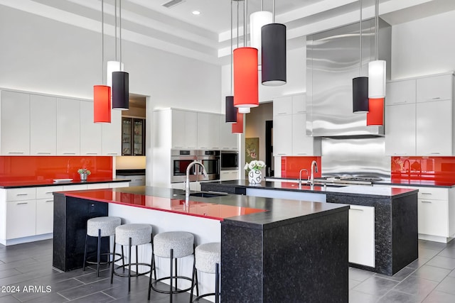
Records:
[[[101,1],[101,83],[104,75],[105,45],[104,1]],[[111,88],[106,85],[93,86],[93,122],[111,123]]]

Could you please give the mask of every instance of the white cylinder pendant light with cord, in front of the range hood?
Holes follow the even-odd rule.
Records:
[[[368,98],[385,98],[386,62],[378,60],[379,0],[375,0],[375,61],[368,63]]]

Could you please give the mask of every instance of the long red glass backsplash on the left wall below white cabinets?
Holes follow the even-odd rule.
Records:
[[[108,156],[1,156],[0,181],[79,178],[77,170],[87,168],[90,178],[111,178],[112,157]]]

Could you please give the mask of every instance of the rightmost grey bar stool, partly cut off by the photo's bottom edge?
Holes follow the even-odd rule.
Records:
[[[196,270],[201,272],[215,274],[215,292],[209,294],[201,294],[190,302],[199,302],[199,299],[208,296],[215,296],[215,303],[220,302],[220,257],[221,257],[221,243],[205,243],[196,247],[194,252],[196,258]],[[191,299],[193,299],[193,289],[191,289]],[[190,300],[191,300],[190,299]]]

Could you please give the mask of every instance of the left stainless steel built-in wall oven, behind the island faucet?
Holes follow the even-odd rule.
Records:
[[[198,160],[197,150],[171,150],[171,183],[186,181],[186,167]],[[198,180],[198,168],[191,167],[190,181]]]

